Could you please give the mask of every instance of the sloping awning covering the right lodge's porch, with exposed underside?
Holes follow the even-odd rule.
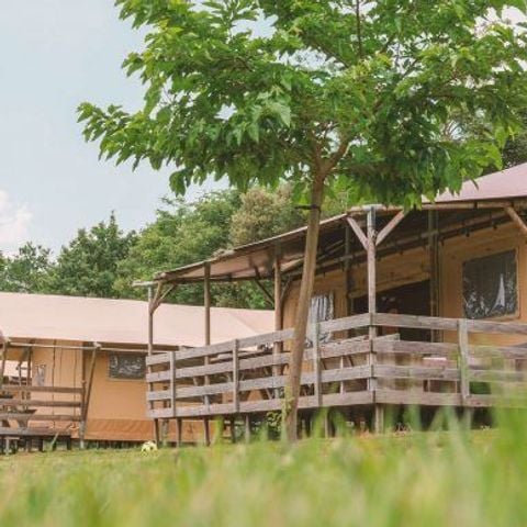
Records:
[[[412,211],[397,226],[397,236],[418,237],[427,228],[427,213],[439,210],[441,226],[453,228],[455,225],[466,225],[467,222],[490,216],[492,210],[506,205],[525,205],[527,199],[527,164],[490,173],[476,181],[467,181],[458,194],[445,192],[434,202],[424,200],[423,208]],[[319,258],[338,257],[341,253],[347,217],[349,214],[360,215],[368,206],[355,208],[346,214],[340,214],[321,222],[321,238],[318,244]],[[379,227],[388,223],[394,212],[401,208],[379,208]],[[503,214],[503,213],[502,213]],[[474,222],[473,222],[474,223]],[[481,223],[481,222],[480,222]],[[273,276],[277,256],[282,274],[294,273],[302,265],[306,227],[271,238],[226,250],[205,261],[183,266],[171,271],[160,272],[155,280],[164,283],[200,282],[205,277],[205,266],[210,268],[211,281],[236,281],[247,279],[268,279]],[[352,237],[349,249],[361,251],[362,247]],[[397,250],[394,248],[394,250]]]

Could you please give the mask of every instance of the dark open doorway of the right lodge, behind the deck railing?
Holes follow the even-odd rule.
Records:
[[[357,314],[367,313],[368,298],[360,296],[356,299],[354,302],[354,311]],[[429,280],[380,291],[377,294],[377,311],[379,313],[429,316]],[[401,328],[397,333],[401,334],[403,340],[430,340],[430,332],[426,329]]]

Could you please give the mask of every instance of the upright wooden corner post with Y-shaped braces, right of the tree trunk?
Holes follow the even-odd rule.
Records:
[[[368,210],[367,217],[367,258],[368,258],[368,313],[373,316],[377,313],[377,231],[375,231],[375,208],[372,205]],[[377,379],[374,377],[377,357],[373,351],[373,339],[377,337],[377,327],[370,324],[370,366],[371,377],[368,381],[368,389],[373,393],[375,401]],[[380,404],[373,404],[373,429],[381,433],[384,427],[384,407]]]

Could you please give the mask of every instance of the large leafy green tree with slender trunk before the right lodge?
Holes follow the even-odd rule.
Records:
[[[79,108],[88,141],[117,162],[176,167],[183,193],[209,177],[247,189],[288,180],[310,209],[285,390],[296,436],[300,374],[325,191],[419,205],[490,164],[525,106],[525,34],[504,18],[524,0],[117,0],[146,26],[124,63],[144,106]],[[259,25],[258,22],[259,21]],[[264,31],[261,31],[261,26]],[[449,137],[478,114],[483,138]]]

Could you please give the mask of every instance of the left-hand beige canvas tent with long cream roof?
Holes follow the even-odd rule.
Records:
[[[4,428],[22,422],[22,428],[60,429],[74,438],[83,435],[86,440],[150,439],[144,381],[146,313],[147,303],[139,301],[0,293],[0,330],[8,361],[3,371],[16,362],[30,370],[20,375],[19,390],[10,385],[16,383],[16,375],[0,386],[4,425],[11,424],[1,429],[13,435]],[[211,310],[212,341],[271,327],[271,312]],[[155,350],[200,346],[205,338],[203,307],[164,304],[155,329]],[[13,400],[20,404],[14,406]],[[36,400],[35,407],[32,401]],[[16,419],[11,419],[14,414]],[[192,429],[190,423],[188,439]]]

